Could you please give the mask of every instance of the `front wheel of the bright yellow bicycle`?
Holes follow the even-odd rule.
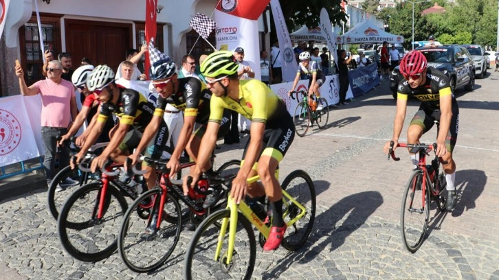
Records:
[[[251,223],[238,213],[232,260],[228,256],[229,229],[225,231],[220,257],[215,259],[223,219],[230,219],[230,210],[221,209],[208,216],[190,240],[184,264],[185,279],[250,279],[255,266],[256,240]],[[231,224],[232,221],[229,222]]]

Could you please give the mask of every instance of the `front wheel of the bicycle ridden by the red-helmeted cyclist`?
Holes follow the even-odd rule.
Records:
[[[430,183],[430,182],[428,182]],[[416,170],[410,176],[402,197],[400,227],[403,244],[410,253],[416,252],[425,237],[430,218],[430,194],[423,197],[423,171]]]

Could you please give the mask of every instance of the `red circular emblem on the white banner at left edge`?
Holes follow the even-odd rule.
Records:
[[[21,141],[21,125],[8,110],[0,109],[0,156],[10,154]]]

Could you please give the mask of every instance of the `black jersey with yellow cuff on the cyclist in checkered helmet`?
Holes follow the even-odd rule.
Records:
[[[206,124],[210,117],[211,91],[206,85],[194,77],[179,78],[179,89],[173,93],[166,102],[179,110],[184,110],[184,115],[195,116],[196,122]]]

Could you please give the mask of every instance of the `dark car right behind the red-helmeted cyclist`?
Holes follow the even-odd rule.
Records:
[[[443,45],[439,47],[420,47],[414,51],[421,51],[428,60],[428,66],[434,67],[447,75],[450,80],[452,93],[460,86],[472,91],[475,86],[475,66],[472,55],[461,45]],[[399,67],[395,67],[390,75],[390,91],[397,99],[397,86],[403,79]]]

